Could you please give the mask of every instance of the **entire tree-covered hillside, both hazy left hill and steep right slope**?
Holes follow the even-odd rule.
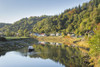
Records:
[[[26,32],[85,35],[87,31],[95,31],[98,23],[100,23],[100,0],[90,0],[89,3],[67,9],[60,15],[23,18],[1,31],[21,35]]]

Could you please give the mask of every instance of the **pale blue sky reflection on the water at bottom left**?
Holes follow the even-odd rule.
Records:
[[[46,64],[45,64],[46,63]],[[7,52],[0,57],[0,67],[64,67],[50,59],[30,58],[20,52]]]

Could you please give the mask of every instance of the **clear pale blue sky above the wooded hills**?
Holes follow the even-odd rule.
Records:
[[[14,23],[22,18],[58,15],[65,9],[90,0],[0,0],[0,23]]]

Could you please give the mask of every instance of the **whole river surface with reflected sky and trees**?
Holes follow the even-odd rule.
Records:
[[[34,44],[31,52],[28,47],[0,52],[0,67],[88,67],[89,57],[78,47],[54,44]]]

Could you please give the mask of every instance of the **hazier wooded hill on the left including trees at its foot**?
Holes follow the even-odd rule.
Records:
[[[9,27],[1,28],[0,31],[4,32],[7,36],[15,35],[16,33],[19,33],[20,36],[28,35],[32,31],[33,26],[37,22],[41,21],[44,18],[49,18],[49,17],[50,16],[43,15],[40,17],[34,16],[29,18],[22,18]]]

